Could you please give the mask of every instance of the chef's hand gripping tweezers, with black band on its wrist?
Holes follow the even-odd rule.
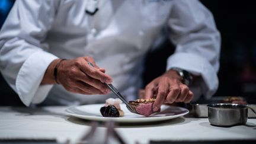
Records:
[[[94,67],[90,66],[91,62]],[[57,77],[53,76],[57,65]],[[98,67],[91,57],[78,57],[76,59],[56,59],[49,65],[41,84],[61,84],[67,91],[79,94],[108,94],[112,78],[105,74],[105,69]]]

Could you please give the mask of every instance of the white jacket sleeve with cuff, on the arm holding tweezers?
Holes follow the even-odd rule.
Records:
[[[44,41],[58,1],[15,1],[0,31],[0,70],[27,106],[40,103],[53,85],[40,85],[56,56]]]

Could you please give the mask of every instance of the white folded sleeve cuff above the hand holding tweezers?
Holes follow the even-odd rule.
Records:
[[[16,79],[18,95],[25,105],[41,103],[46,98],[53,85],[40,85],[40,83],[47,67],[57,58],[50,53],[39,51],[25,60]]]

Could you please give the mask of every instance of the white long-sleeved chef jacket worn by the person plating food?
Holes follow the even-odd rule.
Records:
[[[104,103],[113,95],[81,95],[61,85],[40,85],[57,58],[91,56],[128,100],[142,85],[143,58],[163,27],[175,45],[167,70],[200,75],[191,85],[196,100],[218,87],[220,34],[213,15],[196,0],[17,0],[0,31],[0,70],[25,105]],[[157,59],[157,57],[156,57]],[[156,70],[157,71],[157,70]],[[47,98],[46,98],[47,97]]]

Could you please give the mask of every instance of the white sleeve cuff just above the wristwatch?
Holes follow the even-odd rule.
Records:
[[[210,98],[217,91],[219,86],[217,72],[204,57],[191,53],[175,53],[168,58],[167,70],[173,67],[200,75],[204,82],[200,88],[204,97]]]

